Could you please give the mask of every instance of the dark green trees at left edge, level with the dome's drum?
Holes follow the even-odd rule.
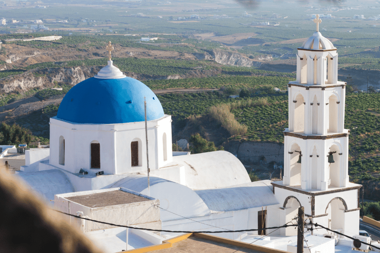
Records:
[[[16,124],[9,126],[1,123],[0,132],[2,134],[0,143],[2,145],[18,145],[20,143],[29,144],[32,140],[32,132],[29,129]]]

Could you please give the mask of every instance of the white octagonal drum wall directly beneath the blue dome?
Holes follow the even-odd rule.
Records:
[[[171,116],[149,121],[148,152],[150,169],[159,169],[172,161]],[[162,134],[167,135],[167,161],[163,161]],[[59,137],[65,139],[65,164],[59,164]],[[139,139],[139,164],[131,166],[131,142]],[[100,169],[91,169],[91,142],[100,144]],[[145,123],[125,124],[72,124],[56,118],[50,119],[50,164],[76,173],[80,169],[106,174],[122,174],[145,171],[146,140]]]

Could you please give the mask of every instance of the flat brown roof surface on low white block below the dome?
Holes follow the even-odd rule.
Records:
[[[89,208],[100,208],[150,201],[150,199],[122,190],[66,197],[65,199]]]

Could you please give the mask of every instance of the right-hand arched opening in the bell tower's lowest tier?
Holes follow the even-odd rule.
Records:
[[[327,213],[328,225],[332,230],[344,230],[344,211],[347,205],[342,198],[333,198],[327,205],[325,213]]]

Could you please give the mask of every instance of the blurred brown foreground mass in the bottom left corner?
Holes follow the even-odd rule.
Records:
[[[100,253],[5,168],[0,173],[1,253]]]

